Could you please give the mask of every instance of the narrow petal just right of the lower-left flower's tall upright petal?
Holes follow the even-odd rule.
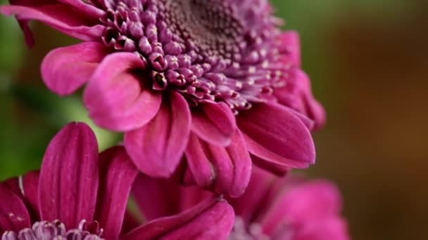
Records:
[[[103,237],[117,239],[122,228],[128,196],[137,168],[124,147],[112,147],[99,156],[101,162],[96,220],[103,226]]]

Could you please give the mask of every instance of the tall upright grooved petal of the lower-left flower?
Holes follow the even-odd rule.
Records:
[[[42,220],[67,227],[93,220],[99,182],[98,146],[86,124],[65,126],[49,142],[39,179]]]

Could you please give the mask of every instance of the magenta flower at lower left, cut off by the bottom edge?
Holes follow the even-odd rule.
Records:
[[[125,209],[136,175],[123,147],[99,155],[91,129],[68,124],[49,143],[40,171],[0,182],[1,240],[224,239],[232,229],[233,209],[219,198],[130,228]]]

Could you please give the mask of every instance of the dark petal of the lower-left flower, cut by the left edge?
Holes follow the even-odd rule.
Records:
[[[30,227],[30,215],[17,194],[0,183],[0,236],[5,231]]]

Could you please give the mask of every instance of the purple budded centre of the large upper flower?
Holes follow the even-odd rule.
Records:
[[[139,55],[153,89],[179,91],[190,105],[225,102],[237,113],[287,80],[277,21],[265,0],[104,3],[103,43]]]

